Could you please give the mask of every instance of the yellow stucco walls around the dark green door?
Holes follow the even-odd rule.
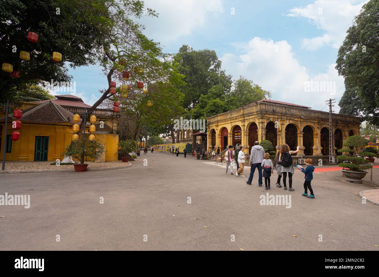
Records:
[[[12,124],[8,123],[7,134],[11,134]],[[3,138],[5,138],[5,124],[2,124],[2,143],[0,157],[3,153]],[[56,123],[56,124],[36,124],[23,122],[20,133],[20,139],[12,142],[11,153],[5,154],[5,160],[26,160],[34,161],[34,153],[36,146],[36,137],[49,137],[49,151],[47,160],[55,161],[63,159],[62,153],[71,142],[72,124]],[[88,132],[88,131],[86,131]],[[118,135],[114,134],[95,134],[97,140],[105,143],[105,161],[110,162],[118,159]]]

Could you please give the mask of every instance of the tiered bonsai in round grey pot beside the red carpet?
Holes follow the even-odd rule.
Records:
[[[367,174],[365,170],[372,168],[372,165],[365,165],[368,163],[368,160],[362,157],[357,157],[357,150],[367,144],[366,139],[363,139],[359,135],[352,135],[343,143],[343,146],[346,147],[338,149],[338,153],[341,153],[342,155],[337,156],[337,159],[343,161],[343,163],[340,163],[339,166],[344,168],[341,169],[341,171],[346,177],[346,182],[362,183],[362,179]],[[346,153],[350,153],[351,151],[354,151],[353,156],[346,155]]]

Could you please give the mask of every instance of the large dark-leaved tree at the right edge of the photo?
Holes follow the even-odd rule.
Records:
[[[338,50],[338,74],[345,77],[345,95],[357,97],[341,99],[341,112],[362,114],[362,120],[379,125],[379,5],[370,0],[354,18],[347,36]],[[352,89],[354,88],[354,89]],[[354,103],[351,103],[354,101]]]

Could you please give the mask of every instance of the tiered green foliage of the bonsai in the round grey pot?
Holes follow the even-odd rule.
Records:
[[[365,172],[366,169],[372,168],[372,165],[364,165],[365,163],[368,163],[368,160],[363,157],[357,157],[357,150],[367,144],[367,140],[363,139],[359,135],[352,135],[351,137],[348,137],[343,143],[343,146],[346,147],[337,150],[338,153],[342,154],[337,156],[337,159],[344,161],[343,163],[340,163],[339,166],[344,167],[345,169],[348,168],[348,170],[351,171],[359,172]],[[346,153],[350,153],[352,150],[354,151],[354,155],[347,156]]]

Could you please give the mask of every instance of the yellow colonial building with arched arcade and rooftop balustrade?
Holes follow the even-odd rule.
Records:
[[[358,117],[333,114],[334,149],[359,134]],[[280,149],[300,146],[299,156],[329,156],[329,112],[274,100],[260,100],[230,112],[207,118],[208,151],[241,143],[249,154],[254,141],[269,140]],[[337,153],[337,152],[336,152]]]

